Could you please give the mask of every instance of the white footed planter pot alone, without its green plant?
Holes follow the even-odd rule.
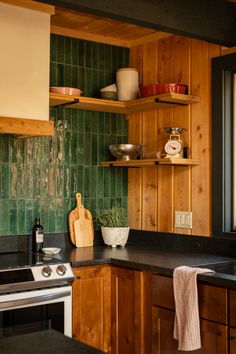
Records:
[[[104,243],[112,247],[125,246],[129,229],[129,227],[101,227]]]

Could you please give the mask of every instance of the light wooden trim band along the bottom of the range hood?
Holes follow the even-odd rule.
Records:
[[[13,134],[22,137],[53,136],[54,122],[0,117],[0,134]]]

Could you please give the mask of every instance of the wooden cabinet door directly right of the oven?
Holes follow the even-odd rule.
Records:
[[[74,269],[73,337],[110,353],[111,268]]]

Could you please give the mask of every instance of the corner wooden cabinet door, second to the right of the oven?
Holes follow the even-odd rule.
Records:
[[[151,353],[150,284],[148,273],[112,268],[112,354]]]

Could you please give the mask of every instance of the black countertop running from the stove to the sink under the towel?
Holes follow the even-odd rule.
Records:
[[[115,266],[147,270],[172,276],[173,270],[181,265],[210,267],[210,264],[231,261],[233,257],[208,253],[181,252],[179,250],[127,244],[126,247],[111,248],[94,246],[63,249],[59,256],[63,261],[70,262],[72,267],[112,264]],[[198,275],[198,279],[213,285],[236,289],[236,276],[226,274]]]

